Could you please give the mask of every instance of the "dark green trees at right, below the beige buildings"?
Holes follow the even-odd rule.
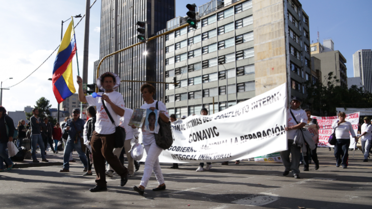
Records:
[[[328,74],[326,84],[316,82],[312,84],[307,81],[307,98],[304,103],[312,103],[312,109],[318,110],[323,116],[336,115],[336,107],[369,108],[372,104],[372,94],[364,91],[363,88],[352,86],[350,89],[345,86],[336,86],[340,81]]]

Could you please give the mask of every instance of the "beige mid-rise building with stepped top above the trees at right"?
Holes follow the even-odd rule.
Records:
[[[310,46],[311,57],[320,60],[323,75],[322,82],[328,80],[328,74],[333,72],[333,76],[340,80],[336,85],[348,87],[346,59],[340,51],[334,49],[332,38],[325,38],[323,44],[317,42]]]

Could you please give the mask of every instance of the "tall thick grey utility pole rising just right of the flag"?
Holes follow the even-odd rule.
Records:
[[[86,1],[85,5],[85,28],[84,28],[84,54],[83,54],[83,91],[87,94],[88,84],[88,53],[89,53],[89,19],[90,19],[91,0]],[[80,118],[83,118],[83,104],[80,103]]]

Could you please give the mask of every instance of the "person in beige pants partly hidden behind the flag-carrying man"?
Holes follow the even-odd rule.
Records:
[[[114,149],[114,155],[117,156],[120,159],[120,155],[122,153],[122,150],[124,149],[125,154],[126,154],[126,159],[128,160],[128,177],[133,177],[134,176],[134,159],[130,155],[130,150],[131,150],[131,145],[130,141],[134,138],[137,139],[138,141],[138,128],[132,128],[131,126],[128,125],[130,121],[130,117],[133,114],[133,110],[129,108],[124,107],[124,116],[120,117],[120,126],[122,126],[125,129],[125,141],[124,141],[124,147],[119,147]],[[123,163],[124,164],[124,163]],[[113,169],[111,168],[110,164],[107,165],[107,171],[106,175],[109,177],[113,177]]]

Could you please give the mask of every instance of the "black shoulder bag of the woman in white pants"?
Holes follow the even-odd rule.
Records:
[[[159,110],[157,103],[158,102],[156,102],[156,109]],[[161,118],[159,118],[157,122],[159,124],[159,131],[158,133],[155,133],[155,143],[163,150],[169,149],[174,141],[172,129],[170,128],[170,121],[164,122]]]

